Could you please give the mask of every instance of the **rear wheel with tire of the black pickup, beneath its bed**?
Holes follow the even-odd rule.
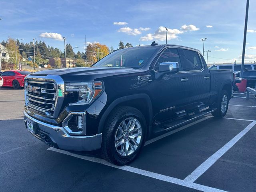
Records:
[[[226,92],[226,90],[222,90],[217,101],[217,109],[212,112],[212,115],[215,117],[224,117],[228,111],[228,103],[228,92]]]

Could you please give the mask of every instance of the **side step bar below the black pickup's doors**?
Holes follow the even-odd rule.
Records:
[[[169,122],[163,122],[162,124],[159,124],[156,128],[153,128],[153,133],[154,134],[162,134],[166,131],[170,131],[170,130],[173,130],[175,128],[178,128],[180,126],[183,126],[183,125],[186,125],[186,124],[189,124],[193,121],[195,121],[196,119],[206,115],[206,114],[209,114],[209,113],[212,113],[216,110],[216,108],[208,108],[204,111],[200,111],[200,112],[197,112],[197,113],[192,113],[192,114],[189,114],[189,116],[186,116],[186,119],[185,118],[178,118],[177,120],[170,120]]]

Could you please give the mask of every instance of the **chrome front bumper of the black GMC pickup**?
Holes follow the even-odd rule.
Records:
[[[63,150],[92,151],[101,147],[102,134],[93,136],[71,136],[63,127],[40,122],[24,112],[24,122],[36,123],[38,133],[34,134],[46,144]]]

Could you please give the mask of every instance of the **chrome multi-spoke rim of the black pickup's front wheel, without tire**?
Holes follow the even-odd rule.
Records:
[[[124,157],[133,154],[141,142],[141,137],[142,128],[136,118],[129,117],[123,120],[115,134],[116,151]]]

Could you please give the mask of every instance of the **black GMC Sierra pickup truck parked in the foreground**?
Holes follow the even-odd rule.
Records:
[[[232,70],[209,71],[200,51],[177,45],[117,50],[89,68],[25,78],[26,128],[63,150],[98,150],[124,165],[144,142],[206,114],[223,117]]]

